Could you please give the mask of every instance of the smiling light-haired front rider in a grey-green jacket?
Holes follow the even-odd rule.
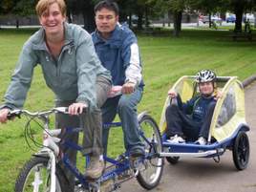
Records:
[[[23,46],[1,106],[0,121],[6,122],[12,109],[23,107],[33,69],[40,65],[46,84],[55,95],[55,105],[68,107],[69,114],[74,115],[56,115],[56,127],[84,128],[83,154],[91,157],[85,175],[97,179],[104,168],[100,160],[103,153],[100,106],[107,99],[112,77],[101,65],[91,35],[66,22],[64,0],[39,0],[36,12],[41,28]],[[82,113],[85,107],[86,113]],[[79,117],[75,116],[78,114]],[[68,139],[77,142],[78,134]],[[67,153],[75,163],[76,152],[69,150]],[[71,184],[75,184],[74,176],[67,175]]]

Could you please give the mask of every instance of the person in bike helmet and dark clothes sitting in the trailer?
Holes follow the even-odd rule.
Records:
[[[196,75],[196,83],[199,96],[194,96],[185,103],[175,91],[170,90],[168,93],[171,99],[177,98],[177,103],[172,102],[165,113],[166,136],[172,143],[189,140],[206,144],[216,99],[219,97],[216,75],[211,70],[202,70]]]

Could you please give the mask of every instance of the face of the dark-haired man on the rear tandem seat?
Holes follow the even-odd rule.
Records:
[[[102,37],[108,38],[111,32],[115,30],[117,22],[118,15],[115,11],[106,8],[96,11],[96,29]]]

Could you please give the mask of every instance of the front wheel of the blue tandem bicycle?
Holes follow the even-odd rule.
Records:
[[[51,170],[48,168],[48,161],[49,158],[47,157],[34,157],[27,161],[17,177],[14,192],[31,192],[34,190],[34,187],[37,188],[35,191],[49,192],[51,185]],[[69,182],[62,174],[60,167],[56,166],[55,174],[55,191],[71,191]]]

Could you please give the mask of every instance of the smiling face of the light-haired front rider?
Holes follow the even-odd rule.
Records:
[[[39,21],[47,36],[63,35],[63,23],[66,20],[57,3],[51,4],[47,10],[39,16]]]

